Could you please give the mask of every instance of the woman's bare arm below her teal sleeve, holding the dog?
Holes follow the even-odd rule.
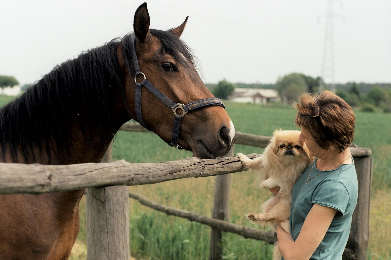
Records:
[[[337,210],[314,204],[305,218],[296,241],[281,227],[277,228],[278,248],[285,260],[307,260],[314,253],[334,218]]]

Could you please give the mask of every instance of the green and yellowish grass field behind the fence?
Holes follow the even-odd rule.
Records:
[[[0,104],[7,98],[0,96]],[[8,98],[9,100],[9,98]],[[294,126],[291,107],[265,107],[225,102],[237,131],[270,136],[276,128]],[[372,150],[374,158],[370,212],[368,259],[391,259],[391,114],[356,114],[354,143]],[[262,153],[262,149],[235,145],[235,152]],[[118,132],[114,140],[113,160],[162,162],[191,157],[188,151],[176,150],[151,132]],[[170,207],[211,215],[215,177],[188,178],[151,185],[131,186],[129,190]],[[244,213],[260,210],[269,192],[258,188],[256,173],[233,173],[231,176],[230,219],[251,226]],[[146,208],[130,199],[131,255],[142,260],[202,260],[208,258],[210,228]],[[86,258],[85,201],[80,205],[81,230],[72,251],[72,260]],[[271,259],[271,245],[224,233],[224,259]]]

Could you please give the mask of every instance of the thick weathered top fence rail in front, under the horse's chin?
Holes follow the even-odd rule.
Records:
[[[253,153],[250,158],[258,157]],[[160,163],[125,160],[69,165],[0,163],[0,194],[71,191],[87,187],[143,185],[246,171],[238,157],[191,157]]]

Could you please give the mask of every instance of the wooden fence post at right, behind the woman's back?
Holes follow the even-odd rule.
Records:
[[[371,182],[372,182],[372,163],[373,158],[363,157],[354,158],[354,164],[359,182],[359,196],[357,206],[352,217],[352,228],[346,249],[344,259],[347,260],[366,260],[369,240],[369,202],[371,200]]]

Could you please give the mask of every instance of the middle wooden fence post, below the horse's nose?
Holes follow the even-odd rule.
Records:
[[[234,146],[225,156],[234,156]],[[231,174],[218,175],[215,179],[215,195],[213,201],[212,217],[228,220],[230,218],[230,182]],[[209,260],[222,259],[222,234],[219,228],[212,228],[210,234]]]

